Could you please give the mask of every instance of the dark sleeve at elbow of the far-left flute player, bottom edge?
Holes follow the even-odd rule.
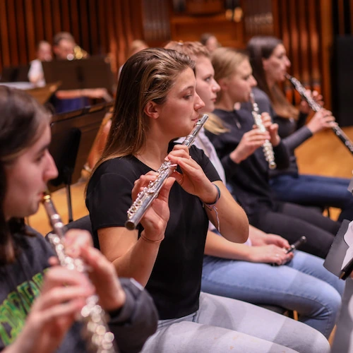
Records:
[[[157,309],[150,294],[136,280],[121,278],[126,302],[109,321],[121,353],[140,352],[150,335],[157,330]]]

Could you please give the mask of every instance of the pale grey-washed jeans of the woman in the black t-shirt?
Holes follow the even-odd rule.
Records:
[[[321,333],[244,301],[200,294],[196,313],[159,322],[142,353],[328,353]]]

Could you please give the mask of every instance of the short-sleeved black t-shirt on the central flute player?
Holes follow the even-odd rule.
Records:
[[[190,155],[210,181],[220,180],[203,151],[192,146]],[[150,170],[133,156],[115,158],[97,168],[88,184],[86,199],[95,246],[99,246],[97,229],[124,227],[132,203],[133,182]],[[165,237],[146,285],[161,319],[179,318],[198,309],[208,229],[208,217],[200,199],[186,193],[177,182],[169,194],[169,209]]]

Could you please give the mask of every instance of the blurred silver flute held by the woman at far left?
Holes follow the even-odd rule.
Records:
[[[49,193],[44,193],[42,203],[53,227],[53,232],[48,234],[56,256],[61,266],[69,270],[78,270],[87,275],[87,267],[80,258],[72,258],[65,251],[64,237],[66,227],[56,212],[54,203]],[[86,342],[88,352],[94,353],[116,353],[114,345],[114,334],[109,331],[107,325],[107,314],[98,304],[98,296],[93,294],[86,299],[85,306],[80,311],[78,321],[83,323],[82,337]]]

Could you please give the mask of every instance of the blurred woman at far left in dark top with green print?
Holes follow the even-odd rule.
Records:
[[[88,352],[75,318],[96,293],[120,352],[140,352],[157,327],[148,293],[134,280],[118,279],[88,232],[71,229],[64,243],[68,256],[88,265],[89,278],[59,266],[47,239],[25,225],[57,176],[48,151],[51,115],[6,86],[0,86],[0,112],[0,351]]]

